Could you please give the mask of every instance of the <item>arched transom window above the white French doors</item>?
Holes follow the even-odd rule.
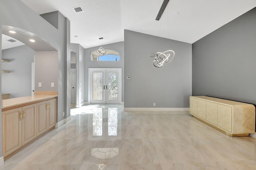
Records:
[[[120,53],[112,49],[100,47],[98,50],[91,52],[91,61],[119,61]]]

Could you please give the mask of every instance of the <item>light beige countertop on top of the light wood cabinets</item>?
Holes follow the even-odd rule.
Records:
[[[5,99],[2,102],[2,109],[7,107],[13,107],[17,105],[22,105],[26,103],[31,103],[35,101],[41,101],[45,99],[51,99],[54,97],[58,97],[58,95],[34,95],[34,96],[25,96],[25,97],[17,97],[12,99]]]

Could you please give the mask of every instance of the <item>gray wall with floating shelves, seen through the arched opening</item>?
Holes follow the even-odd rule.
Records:
[[[2,58],[9,63],[2,63],[2,93],[10,93],[10,98],[30,96],[32,93],[31,63],[35,51],[27,45],[2,50]]]

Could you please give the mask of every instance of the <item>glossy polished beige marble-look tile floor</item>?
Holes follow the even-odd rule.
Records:
[[[229,137],[188,112],[71,109],[71,121],[0,170],[256,170],[256,139]]]

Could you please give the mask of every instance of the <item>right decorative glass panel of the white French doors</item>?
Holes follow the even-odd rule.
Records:
[[[118,73],[108,73],[108,100],[118,99]]]

